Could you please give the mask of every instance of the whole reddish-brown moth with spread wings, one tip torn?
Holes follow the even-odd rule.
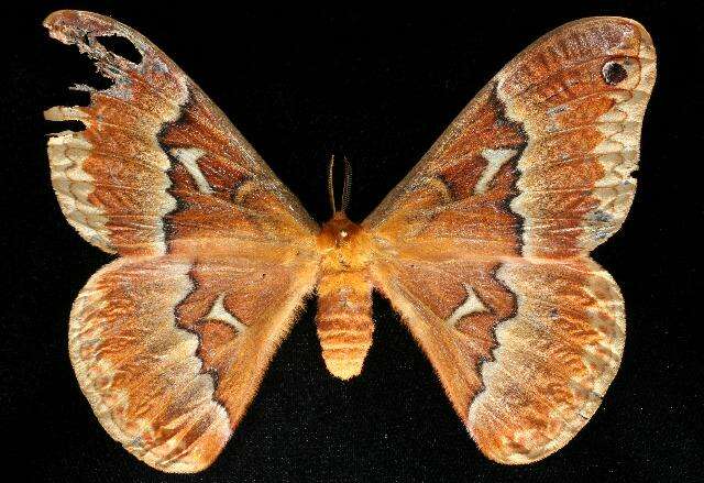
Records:
[[[588,421],[626,333],[588,254],[634,198],[656,54],[646,30],[588,18],[508,63],[364,221],[318,226],[164,53],[112,19],[44,25],[112,80],[54,107],[68,222],[119,257],[80,290],[69,352],[112,438],[165,472],[222,451],[307,296],[330,373],[362,371],[378,290],[418,341],[479,449],[540,460]],[[130,61],[106,48],[118,35]],[[334,200],[334,197],[333,197]]]

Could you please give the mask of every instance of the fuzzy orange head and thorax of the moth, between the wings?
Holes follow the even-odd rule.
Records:
[[[322,226],[318,249],[324,272],[360,271],[369,264],[371,239],[362,227],[338,211]]]

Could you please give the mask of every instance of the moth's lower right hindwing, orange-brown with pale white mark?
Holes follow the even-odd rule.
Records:
[[[624,304],[590,259],[378,262],[373,278],[404,316],[480,449],[530,463],[592,417],[625,341]]]

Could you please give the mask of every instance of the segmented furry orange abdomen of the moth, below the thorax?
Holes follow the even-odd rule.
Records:
[[[349,380],[372,345],[372,285],[365,272],[323,274],[318,284],[318,338],[328,371]]]

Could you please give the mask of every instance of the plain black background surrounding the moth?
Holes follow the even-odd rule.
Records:
[[[30,481],[701,481],[701,12],[685,2],[486,2],[463,10],[430,2],[385,11],[146,3],[37,2],[3,11],[0,414],[11,465]],[[541,462],[492,463],[386,300],[375,297],[374,345],[363,374],[346,384],[322,364],[311,301],[209,470],[172,476],[130,455],[96,420],[67,353],[70,304],[110,257],[66,223],[51,189],[45,136],[57,129],[41,112],[76,102],[66,87],[95,77],[87,59],[41,28],[58,8],[109,14],[161,46],[318,221],[329,217],[324,168],[332,153],[354,165],[349,213],[361,220],[538,36],[594,14],[640,21],[659,66],[638,194],[623,230],[594,254],[624,293],[628,340],[592,421]]]

